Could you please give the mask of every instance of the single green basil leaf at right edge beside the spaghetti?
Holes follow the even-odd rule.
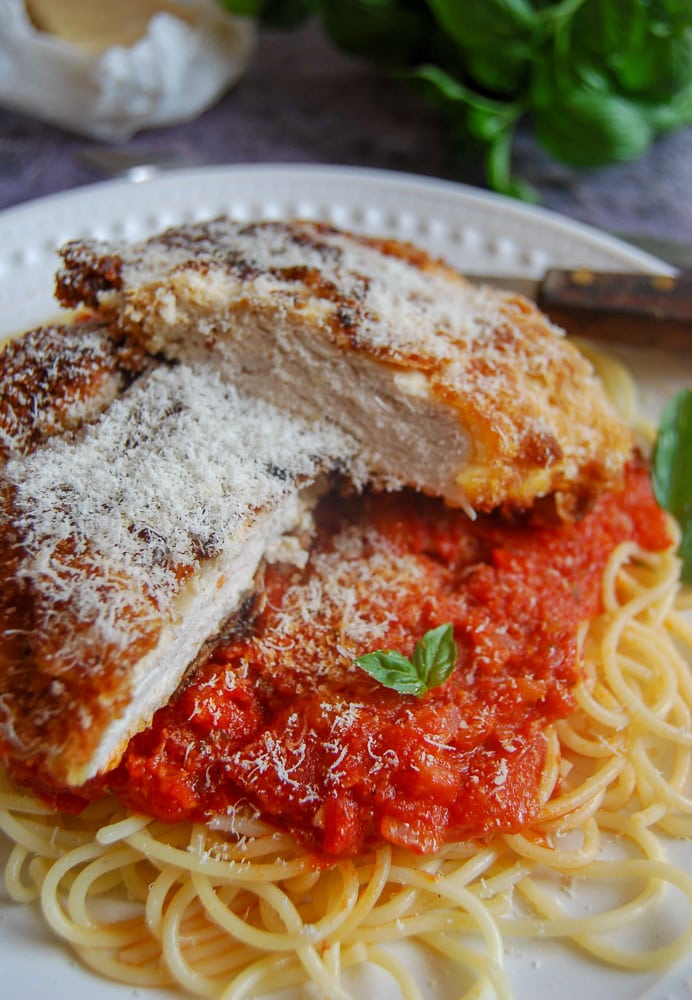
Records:
[[[692,389],[683,389],[665,407],[653,454],[654,493],[682,530],[681,576],[692,583]]]

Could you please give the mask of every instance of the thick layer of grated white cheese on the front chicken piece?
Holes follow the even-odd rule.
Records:
[[[47,625],[67,606],[89,626],[72,653],[124,650],[133,622],[175,620],[191,569],[350,456],[341,432],[243,398],[211,367],[158,368],[77,440],[8,463],[19,577],[53,607]]]

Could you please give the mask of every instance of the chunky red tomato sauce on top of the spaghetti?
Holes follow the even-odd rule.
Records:
[[[645,470],[572,525],[471,522],[409,493],[332,499],[318,522],[307,566],[267,569],[252,624],[89,796],[105,788],[172,821],[242,802],[327,855],[382,841],[427,852],[530,822],[545,728],[572,708],[606,560],[626,539],[669,544]],[[457,663],[422,698],[353,662],[410,655],[443,622]]]

